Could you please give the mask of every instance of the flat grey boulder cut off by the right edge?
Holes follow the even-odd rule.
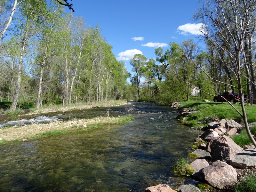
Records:
[[[245,149],[237,153],[231,160],[230,165],[241,169],[256,167],[256,149]]]

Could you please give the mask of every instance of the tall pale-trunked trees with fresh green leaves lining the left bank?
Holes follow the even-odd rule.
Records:
[[[12,101],[12,110],[120,97],[128,72],[99,26],[64,13],[55,0],[0,4],[0,96]]]

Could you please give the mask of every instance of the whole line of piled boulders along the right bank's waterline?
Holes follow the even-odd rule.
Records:
[[[181,106],[178,102],[174,102],[171,107],[178,109]],[[187,115],[195,114],[196,119],[196,113],[193,108],[183,108],[176,118],[182,118],[182,122],[185,123]],[[191,163],[194,170],[191,177],[213,187],[205,189],[205,192],[231,192],[232,187],[246,176],[256,174],[256,148],[254,146],[241,148],[230,138],[243,128],[234,120],[206,117],[203,123],[208,125],[197,128],[203,133],[195,139],[200,145],[194,152],[188,154],[195,158]],[[199,188],[193,185],[183,185],[174,190],[165,184],[149,187],[145,191],[200,192]]]

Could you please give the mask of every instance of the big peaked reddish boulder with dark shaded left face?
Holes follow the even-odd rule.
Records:
[[[206,145],[206,150],[212,154],[212,161],[220,160],[229,163],[230,159],[242,152],[243,148],[228,136],[221,136],[212,138]]]

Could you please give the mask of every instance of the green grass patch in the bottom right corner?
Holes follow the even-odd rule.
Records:
[[[249,175],[240,183],[232,187],[234,192],[254,192],[256,189],[256,175]]]

